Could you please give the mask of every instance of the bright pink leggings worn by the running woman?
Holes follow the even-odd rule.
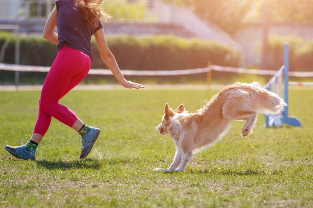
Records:
[[[59,100],[86,77],[90,66],[89,56],[63,45],[44,81],[33,133],[43,136],[49,128],[51,116],[70,127],[73,126],[78,117],[68,107],[60,105]]]

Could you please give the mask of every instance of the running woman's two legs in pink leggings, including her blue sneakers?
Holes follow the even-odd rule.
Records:
[[[89,57],[81,54],[78,50],[63,46],[44,81],[39,100],[38,118],[31,140],[26,146],[11,147],[7,145],[5,149],[9,153],[24,160],[35,160],[36,148],[50,125],[51,116],[74,129],[83,123],[71,109],[58,102],[84,79],[90,66]],[[82,132],[79,133],[83,136],[80,158],[85,158],[90,153],[100,129],[85,125],[81,128]]]

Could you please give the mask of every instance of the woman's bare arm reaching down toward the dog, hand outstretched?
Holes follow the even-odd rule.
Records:
[[[121,83],[121,85],[126,88],[136,88],[136,89],[144,88],[143,85],[125,80],[115,60],[114,55],[112,54],[112,52],[110,51],[108,47],[108,44],[105,38],[105,32],[103,31],[103,29],[101,28],[97,30],[93,35],[97,42],[97,46],[98,46],[102,61],[105,62],[105,64],[110,68],[111,72],[116,77],[116,79]]]

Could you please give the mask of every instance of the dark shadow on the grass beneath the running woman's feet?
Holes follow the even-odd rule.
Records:
[[[99,160],[84,159],[73,161],[48,161],[39,160],[36,161],[38,166],[42,166],[46,169],[95,169],[98,170],[101,167]]]

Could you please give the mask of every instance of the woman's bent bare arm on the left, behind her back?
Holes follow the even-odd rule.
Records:
[[[45,26],[43,29],[43,38],[47,39],[48,41],[53,42],[56,45],[59,44],[58,35],[57,33],[55,33],[55,30],[57,28],[57,23],[58,23],[58,11],[57,11],[57,6],[55,6],[47,22],[45,23]]]

